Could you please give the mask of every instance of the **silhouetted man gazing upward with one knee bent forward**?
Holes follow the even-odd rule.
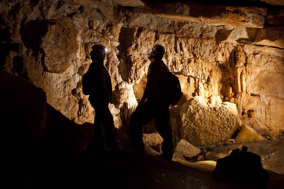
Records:
[[[165,101],[165,94],[159,88],[163,82],[160,73],[168,71],[162,61],[164,54],[164,47],[157,44],[148,52],[151,63],[148,68],[147,84],[140,103],[130,117],[130,140],[133,149],[143,151],[142,129],[154,118],[157,130],[163,138],[162,157],[171,161],[174,145],[170,125],[170,104]]]

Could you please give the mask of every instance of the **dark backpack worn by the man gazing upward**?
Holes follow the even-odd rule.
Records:
[[[165,66],[164,63],[163,65]],[[167,67],[166,69],[168,70]],[[161,79],[159,83],[161,84],[161,91],[165,95],[165,101],[171,105],[176,105],[183,95],[179,78],[170,71],[161,72],[159,77]]]

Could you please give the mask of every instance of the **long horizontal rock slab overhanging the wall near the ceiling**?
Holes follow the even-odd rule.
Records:
[[[136,8],[132,11],[144,14],[153,12],[155,16],[172,20],[211,23],[214,25],[242,25],[247,27],[263,27],[266,15],[266,9],[264,8],[199,5],[193,3],[164,3],[156,5],[153,10]],[[254,16],[254,18],[251,18],[251,16]]]

